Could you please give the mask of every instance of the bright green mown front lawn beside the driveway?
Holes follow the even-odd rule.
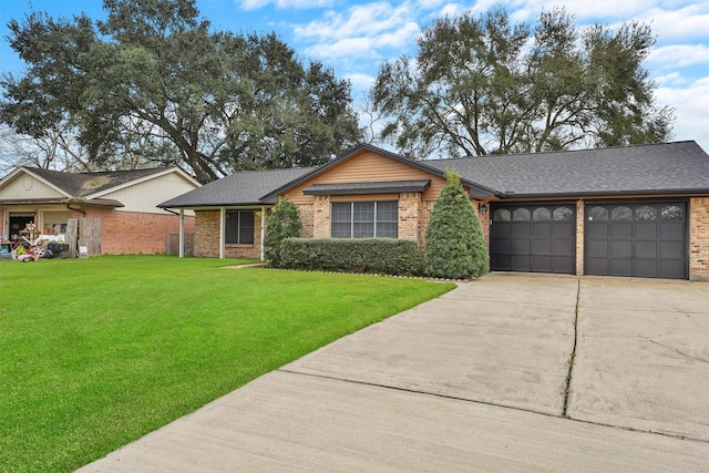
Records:
[[[0,261],[0,471],[73,471],[453,287],[235,263]]]

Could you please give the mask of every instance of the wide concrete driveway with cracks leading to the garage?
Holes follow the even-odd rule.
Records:
[[[706,471],[708,397],[709,284],[492,274],[81,471]]]

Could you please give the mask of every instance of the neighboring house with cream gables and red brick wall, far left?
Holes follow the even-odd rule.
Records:
[[[18,167],[0,179],[0,235],[9,238],[32,223],[40,234],[63,234],[70,218],[101,219],[104,254],[165,253],[168,233],[194,232],[157,204],[199,187],[171,168],[64,173]]]

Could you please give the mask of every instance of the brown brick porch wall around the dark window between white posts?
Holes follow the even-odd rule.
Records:
[[[195,256],[219,257],[219,210],[196,212]],[[224,256],[227,258],[260,259],[261,257],[261,217],[256,212],[254,218],[253,245],[226,245]]]

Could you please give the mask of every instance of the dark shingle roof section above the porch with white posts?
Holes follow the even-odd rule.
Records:
[[[288,184],[315,167],[246,171],[205,184],[158,205],[162,208],[189,208],[222,205],[261,205],[261,197]]]

